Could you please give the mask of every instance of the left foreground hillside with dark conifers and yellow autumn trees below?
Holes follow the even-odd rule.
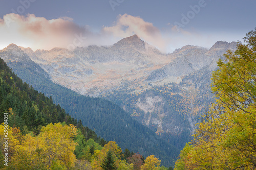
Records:
[[[144,159],[127,149],[122,152],[116,142],[106,142],[82,126],[52,98],[18,78],[3,59],[0,102],[1,169],[160,168],[161,160],[154,155]]]

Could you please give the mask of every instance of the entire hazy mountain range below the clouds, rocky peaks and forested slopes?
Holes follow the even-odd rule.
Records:
[[[116,125],[136,124],[135,127],[139,127],[137,131],[141,131],[141,135],[137,137],[144,139],[147,138],[146,134],[150,134],[144,140],[144,145],[153,146],[154,141],[163,139],[160,143],[166,141],[170,144],[169,148],[174,145],[181,150],[191,139],[190,135],[196,129],[198,118],[212,102],[211,72],[217,68],[217,61],[223,59],[223,54],[227,50],[235,51],[236,45],[236,42],[217,41],[209,49],[186,45],[171,54],[163,54],[133,35],[111,46],[77,47],[73,51],[55,47],[49,51],[34,52],[31,48],[10,44],[0,51],[0,57],[20,78],[38,91],[52,96],[55,103],[60,104],[73,117],[81,118],[84,125],[95,130],[104,139],[115,138],[118,142],[118,135],[112,133],[104,136],[104,129],[111,131],[111,125],[104,125],[104,119],[98,121],[104,125],[98,131],[97,125],[91,122],[95,123],[96,116],[102,116],[96,112],[106,109],[106,105],[112,105],[106,101],[109,100],[114,103],[113,108],[120,112],[119,115],[113,114],[118,119]],[[58,91],[64,87],[65,92]],[[73,101],[63,99],[65,96],[70,98],[71,93],[76,96]],[[91,108],[94,109],[81,113],[80,108],[77,108],[86,105],[89,99],[95,99],[100,105],[91,103]],[[113,119],[113,116],[102,117]],[[151,129],[161,139],[140,127],[134,120]],[[113,121],[115,122],[114,119]],[[119,129],[123,130],[123,126]],[[118,126],[113,129],[118,129]],[[130,130],[134,132],[136,128]],[[125,145],[124,143],[122,144]],[[168,146],[166,143],[161,144],[162,147],[163,145]],[[140,150],[135,151],[149,154],[143,151],[142,146],[138,148]],[[175,159],[178,150],[173,150],[175,154],[172,159]],[[154,154],[168,156],[167,153]],[[172,164],[172,161],[165,163]]]

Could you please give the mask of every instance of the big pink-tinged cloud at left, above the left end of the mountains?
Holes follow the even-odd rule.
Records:
[[[30,46],[33,50],[50,50],[53,47],[65,47],[70,44],[83,46],[88,43],[92,34],[86,27],[80,27],[72,18],[62,17],[47,20],[34,14],[22,16],[6,14],[0,19],[0,48],[10,43]]]

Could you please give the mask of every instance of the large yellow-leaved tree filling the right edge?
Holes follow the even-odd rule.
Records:
[[[188,147],[183,149],[176,169],[182,169],[182,161],[185,169],[256,168],[256,29],[244,40],[247,44],[239,42],[236,52],[227,51],[226,60],[218,62],[212,74],[216,102],[199,124],[193,148],[188,153]]]

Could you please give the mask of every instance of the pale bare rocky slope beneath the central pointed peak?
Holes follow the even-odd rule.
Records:
[[[48,72],[53,82],[90,96],[107,94],[125,84],[130,88],[140,87],[150,72],[174,58],[161,54],[137,35],[111,46],[79,47],[74,51],[23,50]]]

